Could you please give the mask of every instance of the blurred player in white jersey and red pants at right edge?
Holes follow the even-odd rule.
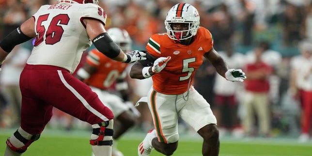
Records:
[[[301,55],[291,60],[289,92],[300,103],[301,134],[298,141],[307,142],[312,124],[312,40],[301,41],[299,47]]]

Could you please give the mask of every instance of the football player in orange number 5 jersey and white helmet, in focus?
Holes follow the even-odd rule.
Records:
[[[199,24],[196,8],[187,3],[174,5],[166,16],[167,33],[152,35],[146,46],[148,60],[136,62],[130,70],[131,78],[153,79],[146,102],[155,129],[140,143],[139,156],[149,156],[153,149],[171,156],[178,146],[179,117],[203,137],[203,156],[218,156],[217,120],[208,102],[192,86],[195,71],[205,57],[229,81],[243,82],[246,76],[241,69],[228,69],[213,48],[212,34]]]

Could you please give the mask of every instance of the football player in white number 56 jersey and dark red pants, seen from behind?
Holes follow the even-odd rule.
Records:
[[[34,48],[20,76],[21,125],[6,141],[4,156],[20,156],[39,139],[60,109],[92,125],[90,144],[95,156],[111,156],[113,113],[91,88],[71,74],[82,52],[93,43],[109,58],[131,63],[145,54],[125,54],[106,32],[107,15],[97,0],[59,0],[43,5],[30,19],[0,42],[0,64],[18,44],[35,37]],[[73,154],[74,155],[74,154]]]

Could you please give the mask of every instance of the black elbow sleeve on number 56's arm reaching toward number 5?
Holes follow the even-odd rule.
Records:
[[[120,47],[109,37],[107,32],[99,34],[92,42],[101,53],[111,59],[120,53]]]

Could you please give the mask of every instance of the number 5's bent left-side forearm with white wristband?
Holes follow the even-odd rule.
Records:
[[[137,78],[137,79],[149,78],[149,77],[144,77],[143,73],[146,75],[150,75],[149,77],[155,74],[152,71],[152,67],[150,66],[144,67],[140,62],[135,62],[131,67],[129,75],[131,78]]]

